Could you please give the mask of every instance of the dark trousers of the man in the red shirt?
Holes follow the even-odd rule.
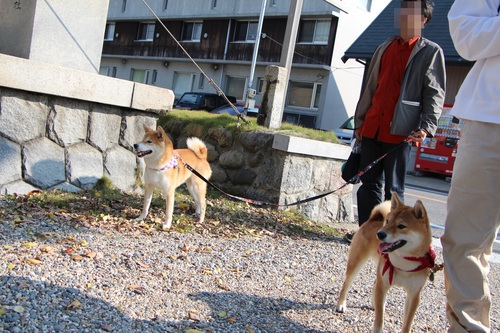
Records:
[[[357,192],[360,226],[368,220],[373,207],[382,201],[390,200],[393,192],[404,201],[406,166],[411,149],[410,144],[384,143],[366,137],[363,137],[361,146],[361,169],[383,154],[398,148],[361,176],[362,185]],[[384,197],[382,197],[384,179]]]

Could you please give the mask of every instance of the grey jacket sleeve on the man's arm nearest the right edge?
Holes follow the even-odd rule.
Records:
[[[426,130],[431,136],[434,136],[438,119],[443,110],[446,88],[446,68],[441,48],[436,49],[424,80],[420,128]]]

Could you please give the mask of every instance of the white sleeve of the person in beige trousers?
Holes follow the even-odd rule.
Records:
[[[450,34],[467,60],[500,55],[500,0],[455,0],[448,13]]]

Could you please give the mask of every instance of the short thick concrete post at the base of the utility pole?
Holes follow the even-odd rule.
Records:
[[[264,77],[264,93],[260,103],[257,123],[267,128],[281,126],[285,106],[285,91],[288,85],[288,71],[280,66],[267,66]]]

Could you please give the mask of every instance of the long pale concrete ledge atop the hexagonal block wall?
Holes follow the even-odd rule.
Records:
[[[174,93],[115,79],[0,54],[0,86],[154,113],[172,109]]]

